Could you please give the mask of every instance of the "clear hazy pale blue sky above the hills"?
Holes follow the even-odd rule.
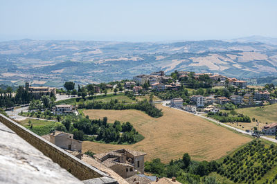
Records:
[[[0,0],[0,40],[277,37],[276,0]]]

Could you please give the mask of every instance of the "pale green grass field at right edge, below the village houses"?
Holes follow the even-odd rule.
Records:
[[[277,104],[268,105],[265,107],[250,107],[237,109],[238,113],[243,113],[251,119],[256,118],[258,121],[265,123],[277,122]]]

